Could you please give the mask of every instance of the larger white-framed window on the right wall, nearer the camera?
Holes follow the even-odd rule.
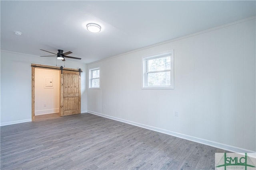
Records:
[[[143,57],[142,89],[174,89],[174,51]]]

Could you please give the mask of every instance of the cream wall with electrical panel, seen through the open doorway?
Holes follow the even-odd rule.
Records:
[[[53,86],[45,86],[52,78]],[[60,70],[35,68],[35,115],[58,113],[60,107]]]

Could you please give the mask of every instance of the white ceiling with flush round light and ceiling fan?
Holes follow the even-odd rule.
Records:
[[[91,63],[256,16],[256,1],[0,1],[1,49]],[[97,23],[99,33],[83,24]],[[14,31],[22,32],[15,35]],[[50,58],[50,57],[49,57]],[[54,58],[54,57],[53,57]],[[54,58],[55,59],[55,58]]]

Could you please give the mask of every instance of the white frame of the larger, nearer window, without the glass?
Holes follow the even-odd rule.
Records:
[[[165,71],[170,71],[170,86],[148,86],[148,60],[150,59],[157,59],[157,58],[162,58],[162,57],[167,57],[170,56],[171,57],[171,61],[170,61],[170,66],[171,69],[170,70],[163,70],[163,71],[159,71],[159,72],[165,72]],[[147,56],[147,57],[142,57],[142,89],[174,89],[174,50],[170,50],[170,51],[165,51],[162,53],[158,53],[157,55],[153,55],[153,56]]]

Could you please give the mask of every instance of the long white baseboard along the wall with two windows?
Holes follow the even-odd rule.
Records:
[[[186,139],[186,140],[189,140],[189,141],[193,141],[193,142],[196,142],[196,143],[201,143],[201,144],[208,145],[208,146],[211,146],[211,147],[228,150],[230,152],[236,152],[236,153],[254,153],[254,152],[256,152],[256,151],[253,151],[253,150],[238,148],[238,147],[226,145],[226,144],[223,144],[223,143],[209,141],[209,140],[206,140],[206,139],[201,139],[201,138],[192,137],[192,136],[189,136],[189,135],[184,135],[184,134],[181,134],[181,133],[168,131],[168,130],[161,129],[161,128],[158,128],[158,127],[152,127],[152,126],[149,126],[149,125],[144,125],[144,124],[136,123],[136,122],[133,122],[133,121],[128,121],[128,120],[125,120],[125,119],[120,119],[120,118],[117,118],[117,117],[104,115],[102,113],[96,113],[94,111],[89,111],[88,110],[87,112],[91,113],[91,114],[94,114],[94,115],[101,116],[101,117],[106,117],[108,119],[113,119],[113,120],[116,120],[116,121],[128,123],[130,125],[134,125],[134,126],[142,127],[142,128],[149,129],[149,130],[152,130],[152,131],[156,131],[156,132],[164,133],[164,134],[167,134],[167,135],[171,135],[171,136],[174,136],[174,137],[179,137],[179,138]]]

